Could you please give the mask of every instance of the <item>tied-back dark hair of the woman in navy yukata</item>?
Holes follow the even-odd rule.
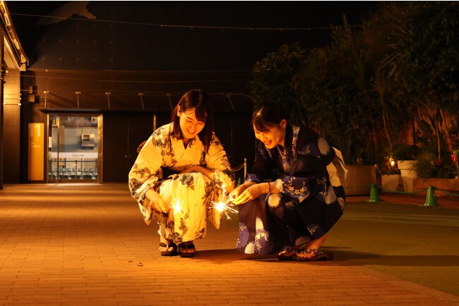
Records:
[[[266,102],[256,107],[252,115],[251,127],[260,132],[268,132],[269,127],[277,126],[285,118],[283,109],[279,104]]]

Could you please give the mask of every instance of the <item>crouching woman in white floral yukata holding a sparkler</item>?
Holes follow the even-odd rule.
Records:
[[[233,188],[234,173],[213,133],[208,95],[186,92],[172,111],[172,123],[153,132],[129,172],[129,189],[145,223],[157,219],[160,254],[193,257],[193,240],[205,237],[207,219],[220,227],[213,201]]]

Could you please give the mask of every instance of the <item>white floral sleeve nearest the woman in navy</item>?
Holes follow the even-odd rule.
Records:
[[[229,164],[227,154],[220,140],[214,134],[212,142],[205,154],[206,168],[214,171],[215,182],[224,185],[227,191],[234,188],[234,172]]]

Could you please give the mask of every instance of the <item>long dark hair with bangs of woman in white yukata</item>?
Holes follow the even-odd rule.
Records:
[[[179,109],[179,106],[181,113],[186,113],[186,111],[189,111],[190,109],[195,109],[196,119],[198,121],[205,122],[203,130],[201,130],[198,136],[203,142],[205,152],[207,152],[210,147],[213,134],[213,112],[208,99],[208,94],[202,90],[190,90],[181,97],[177,106],[175,106],[172,110],[171,115],[172,123],[174,123],[174,136],[177,139],[183,139],[180,129],[180,117],[177,116],[177,109]]]

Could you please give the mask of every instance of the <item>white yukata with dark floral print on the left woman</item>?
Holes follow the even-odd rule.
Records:
[[[138,154],[129,172],[129,189],[138,202],[143,219],[150,224],[156,216],[160,235],[175,243],[192,241],[206,235],[207,219],[215,228],[220,228],[221,213],[212,208],[212,203],[234,188],[234,173],[225,149],[215,134],[208,152],[199,137],[190,140],[187,147],[174,137],[172,124],[155,130]],[[214,171],[211,180],[203,173],[173,174],[162,177],[162,167],[181,172],[191,166],[200,165]],[[167,214],[151,209],[145,193],[153,188],[172,209]]]

